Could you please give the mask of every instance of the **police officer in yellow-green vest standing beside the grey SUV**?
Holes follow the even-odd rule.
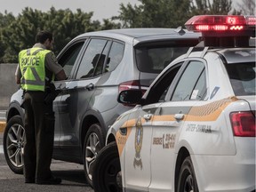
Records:
[[[16,82],[24,90],[25,133],[24,176],[26,183],[60,184],[52,175],[52,149],[54,114],[52,101],[45,102],[51,94],[51,83],[66,79],[52,50],[53,36],[48,31],[36,35],[36,44],[19,53]]]

